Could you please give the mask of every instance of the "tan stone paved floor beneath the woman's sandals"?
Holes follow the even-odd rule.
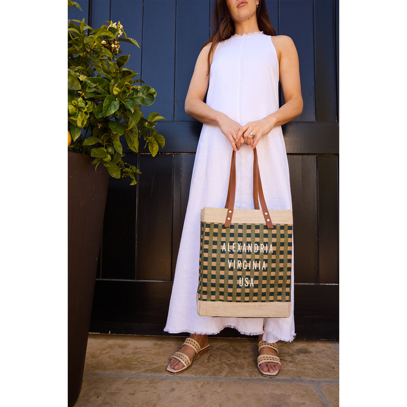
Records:
[[[184,373],[165,371],[184,338],[90,334],[75,407],[335,407],[339,342],[279,342],[277,377],[256,367],[253,338],[210,338],[211,348]]]

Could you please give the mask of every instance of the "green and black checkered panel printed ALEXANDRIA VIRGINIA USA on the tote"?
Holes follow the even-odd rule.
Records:
[[[289,302],[293,226],[201,222],[198,300]]]

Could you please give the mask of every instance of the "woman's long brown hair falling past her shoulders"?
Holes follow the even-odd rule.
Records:
[[[270,22],[269,13],[267,12],[266,2],[259,0],[256,9],[257,25],[260,31],[266,35],[276,35],[276,31]],[[235,34],[235,23],[230,17],[226,0],[217,0],[212,15],[212,35],[209,40],[203,44],[203,47],[212,42],[208,54],[208,74],[211,69],[211,56],[215,52],[216,46],[220,41],[227,40]],[[203,48],[202,47],[202,48]]]

